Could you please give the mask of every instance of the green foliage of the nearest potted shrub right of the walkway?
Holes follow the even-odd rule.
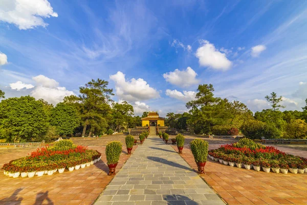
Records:
[[[196,162],[207,161],[208,142],[203,139],[194,139],[190,142],[190,149]]]

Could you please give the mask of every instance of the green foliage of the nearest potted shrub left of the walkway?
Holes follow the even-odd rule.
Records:
[[[108,165],[112,165],[119,161],[120,153],[122,152],[122,144],[120,141],[111,141],[106,145],[105,155]]]

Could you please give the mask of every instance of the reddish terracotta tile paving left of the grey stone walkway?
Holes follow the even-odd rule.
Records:
[[[132,152],[137,146],[133,147]],[[33,178],[12,178],[0,173],[0,204],[92,204],[114,176],[108,176],[105,147],[89,146],[101,152],[101,160],[83,169]],[[18,150],[18,155],[2,154],[0,165],[26,156],[33,150]],[[130,155],[123,147],[116,171],[118,172]]]

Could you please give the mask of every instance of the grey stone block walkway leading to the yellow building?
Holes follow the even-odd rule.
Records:
[[[225,204],[169,145],[149,136],[96,204]]]

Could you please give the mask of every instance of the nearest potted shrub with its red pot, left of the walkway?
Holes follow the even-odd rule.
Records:
[[[122,152],[122,144],[120,141],[111,141],[106,145],[105,155],[107,160],[107,166],[109,168],[108,175],[115,175],[115,168],[119,161],[121,152]]]

